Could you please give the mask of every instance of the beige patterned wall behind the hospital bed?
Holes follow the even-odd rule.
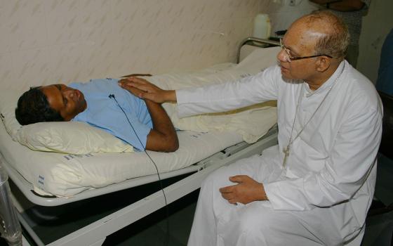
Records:
[[[234,61],[263,1],[0,0],[1,87]]]

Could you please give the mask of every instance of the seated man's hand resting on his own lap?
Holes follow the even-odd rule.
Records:
[[[247,204],[254,201],[267,200],[263,184],[258,183],[249,176],[232,176],[229,177],[229,181],[237,184],[220,188],[222,198],[226,199],[229,203],[236,204],[240,202]]]

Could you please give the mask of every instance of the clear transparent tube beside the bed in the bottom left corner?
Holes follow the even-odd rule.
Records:
[[[22,228],[20,227],[17,212],[11,200],[11,189],[8,185],[8,174],[1,167],[0,161],[0,233],[8,245],[22,245]]]

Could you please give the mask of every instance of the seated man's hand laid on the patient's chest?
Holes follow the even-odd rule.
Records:
[[[130,91],[139,98],[148,99],[156,103],[175,102],[175,91],[166,91],[154,84],[148,82],[146,79],[138,77],[129,77],[119,81],[121,88]],[[135,90],[136,89],[136,90]]]

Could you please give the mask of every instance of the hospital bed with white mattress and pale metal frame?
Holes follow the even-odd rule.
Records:
[[[212,80],[224,82],[255,74],[276,63],[275,56],[279,48],[258,48],[258,46],[265,47],[265,44],[278,45],[274,41],[248,38],[242,41],[239,47],[238,59],[241,60],[240,63],[215,65],[196,72],[161,75],[157,77],[156,84],[164,88],[177,89],[185,86],[180,82],[185,82],[187,79],[190,82],[187,86],[196,86]],[[196,77],[199,79],[195,79]],[[154,82],[154,77],[148,79]],[[167,81],[176,81],[176,79],[180,81],[178,84],[166,84]],[[200,84],[193,84],[196,80],[199,80]],[[265,116],[267,123],[262,126],[261,130],[263,131],[262,137],[249,132],[241,134],[244,133],[243,130],[228,131],[231,127],[236,126],[231,125],[232,113],[240,117],[252,117],[248,115],[248,112],[259,112],[259,106],[259,108],[243,109],[239,112],[227,112],[213,118],[210,117],[211,115],[197,116],[196,119],[191,120],[191,124],[187,122],[187,119],[186,122],[182,122],[182,119],[175,118],[175,108],[173,107],[174,105],[164,105],[175,127],[182,127],[184,124],[188,128],[183,127],[184,130],[178,131],[180,148],[175,153],[149,152],[157,164],[159,176],[144,153],[86,153],[79,155],[34,151],[13,141],[4,125],[0,124],[0,166],[2,171],[5,170],[8,173],[9,178],[17,187],[18,191],[13,190],[13,193],[18,193],[18,197],[22,195],[23,199],[27,199],[34,206],[62,207],[100,195],[116,193],[119,190],[159,181],[159,179],[183,177],[166,186],[164,192],[157,190],[145,198],[121,207],[77,231],[48,243],[48,245],[102,245],[107,235],[119,231],[197,190],[201,181],[211,171],[241,158],[259,154],[265,148],[277,144],[277,127],[274,124],[276,118],[275,114],[272,114],[275,108],[270,106],[260,106],[268,111]],[[222,121],[227,123],[229,121],[227,129],[222,129]],[[217,129],[206,129],[206,126],[215,126]],[[199,131],[197,131],[198,129]],[[247,143],[244,141],[247,138],[248,140],[259,139],[255,143]],[[254,142],[255,140],[251,139],[250,141]],[[0,193],[3,192],[0,195],[6,198],[7,190],[8,188],[0,189]],[[25,204],[20,202],[20,198],[16,198],[14,195],[12,197],[18,210],[25,209]],[[0,206],[3,206],[0,207],[0,216],[1,214],[12,214],[12,212],[7,212],[7,209],[12,207],[9,202],[8,206],[4,206],[2,203]],[[37,245],[44,245],[44,242],[29,225],[31,221],[20,213],[16,213],[16,215],[34,242]],[[5,219],[4,217],[6,216],[2,216],[0,219]],[[4,221],[4,224],[7,225],[7,223],[12,223],[12,221]],[[12,226],[8,228],[12,228]]]

